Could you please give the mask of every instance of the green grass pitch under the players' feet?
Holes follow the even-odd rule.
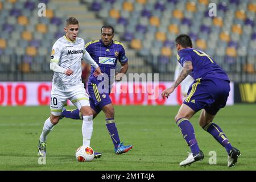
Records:
[[[71,109],[71,107],[69,107]],[[105,128],[104,113],[94,119],[91,147],[102,152],[100,159],[79,163],[76,148],[82,144],[81,120],[62,119],[48,135],[46,164],[38,164],[37,147],[49,106],[0,107],[0,170],[255,170],[256,105],[234,105],[222,109],[217,123],[241,157],[233,168],[227,167],[225,149],[198,125],[197,113],[191,122],[197,142],[204,152],[202,162],[180,167],[189,147],[174,122],[178,106],[115,106],[115,120],[121,141],[133,144],[127,154],[115,155]],[[210,151],[217,164],[209,164]]]

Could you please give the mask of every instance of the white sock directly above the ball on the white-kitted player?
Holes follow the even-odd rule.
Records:
[[[90,138],[93,132],[93,115],[83,115],[82,117],[82,145],[90,146]]]

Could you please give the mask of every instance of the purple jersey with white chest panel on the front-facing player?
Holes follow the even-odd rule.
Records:
[[[101,40],[92,40],[85,45],[85,48],[92,59],[99,65],[101,72],[109,76],[109,80],[110,77],[114,76],[111,75],[111,73],[114,73],[113,71],[111,72],[111,69],[117,67],[117,61],[120,63],[126,63],[128,61],[125,56],[123,44],[117,40],[113,40],[110,46],[105,46]],[[97,80],[97,78],[93,76],[94,71],[95,68],[92,67],[89,83],[94,82],[93,80]]]

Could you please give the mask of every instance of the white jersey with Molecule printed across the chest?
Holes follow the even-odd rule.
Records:
[[[61,68],[73,70],[73,75],[54,73],[52,82],[56,84],[79,84],[82,82],[82,56],[86,52],[84,39],[76,38],[75,42],[66,36],[59,38],[52,47],[51,62],[57,63]]]

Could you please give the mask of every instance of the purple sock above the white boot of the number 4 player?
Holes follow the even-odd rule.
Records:
[[[177,120],[177,126],[179,126],[183,138],[186,140],[188,146],[191,148],[193,154],[200,152],[200,148],[197,145],[195,131],[192,124],[187,118],[180,118]]]

